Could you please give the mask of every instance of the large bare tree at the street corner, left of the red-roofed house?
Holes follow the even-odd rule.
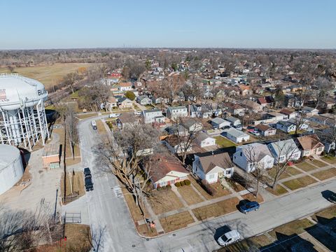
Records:
[[[151,154],[160,151],[159,132],[151,125],[125,125],[113,132],[113,139],[97,145],[97,161],[103,172],[111,172],[134,197],[144,214],[142,197],[149,196]]]

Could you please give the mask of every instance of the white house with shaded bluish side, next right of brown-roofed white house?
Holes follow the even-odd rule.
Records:
[[[253,172],[256,168],[271,169],[274,158],[265,144],[253,143],[238,146],[233,162],[245,172]]]

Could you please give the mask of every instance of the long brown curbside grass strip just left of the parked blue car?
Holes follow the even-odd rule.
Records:
[[[239,204],[239,199],[232,197],[228,200],[193,209],[193,213],[199,221],[202,221],[210,217],[218,217],[236,211],[237,204]]]

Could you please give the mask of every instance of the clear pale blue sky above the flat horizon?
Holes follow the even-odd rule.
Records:
[[[0,0],[0,49],[336,48],[335,0]]]

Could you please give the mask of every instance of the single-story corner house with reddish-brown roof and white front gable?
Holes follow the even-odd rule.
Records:
[[[155,155],[151,158],[153,164],[150,172],[151,181],[155,188],[173,185],[188,179],[188,172],[179,160],[169,155]]]

